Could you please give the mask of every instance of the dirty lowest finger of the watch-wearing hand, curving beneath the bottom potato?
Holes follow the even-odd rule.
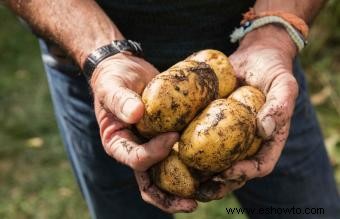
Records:
[[[192,212],[197,208],[196,201],[166,194],[153,185],[146,172],[135,171],[135,177],[142,199],[165,212]]]

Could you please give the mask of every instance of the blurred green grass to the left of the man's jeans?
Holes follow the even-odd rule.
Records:
[[[0,8],[0,218],[89,218],[54,120],[37,40]]]

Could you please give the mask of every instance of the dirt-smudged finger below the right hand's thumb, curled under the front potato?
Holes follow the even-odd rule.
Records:
[[[283,150],[289,126],[290,123],[283,126],[271,141],[262,145],[260,151],[253,158],[236,162],[220,176],[228,180],[244,179],[247,181],[270,174]]]

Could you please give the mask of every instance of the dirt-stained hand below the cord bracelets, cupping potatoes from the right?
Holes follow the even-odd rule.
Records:
[[[236,162],[203,184],[200,199],[220,199],[247,180],[266,176],[274,169],[288,137],[298,95],[292,73],[295,53],[296,47],[283,28],[266,26],[249,33],[230,56],[240,83],[255,86],[266,95],[257,115],[258,134],[265,141],[254,157]]]

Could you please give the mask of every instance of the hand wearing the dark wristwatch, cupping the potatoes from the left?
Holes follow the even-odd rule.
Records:
[[[131,124],[138,122],[144,113],[140,94],[157,73],[145,60],[122,53],[99,64],[91,87],[100,135],[107,154],[135,170],[146,202],[169,213],[191,212],[197,206],[194,200],[163,193],[151,183],[146,172],[168,155],[178,134],[162,134],[143,143],[130,130]]]

